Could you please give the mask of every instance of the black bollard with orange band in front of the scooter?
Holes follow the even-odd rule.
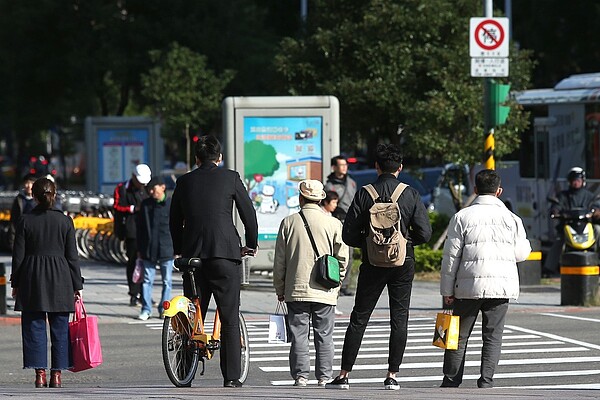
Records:
[[[598,255],[573,251],[560,257],[560,305],[593,303],[598,292]]]

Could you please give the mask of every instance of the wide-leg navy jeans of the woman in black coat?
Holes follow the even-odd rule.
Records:
[[[46,315],[50,324],[50,353],[53,370],[71,366],[69,345],[69,313],[23,311],[21,335],[23,338],[23,368],[48,368],[48,337]]]

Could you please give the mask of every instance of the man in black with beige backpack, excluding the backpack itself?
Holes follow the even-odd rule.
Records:
[[[402,170],[402,154],[400,147],[394,144],[377,146],[375,168],[378,178],[372,185],[379,193],[381,200],[392,196],[398,182],[398,174]],[[400,198],[400,225],[406,244],[406,260],[400,267],[376,267],[369,264],[367,254],[367,234],[369,231],[369,209],[373,199],[366,189],[361,188],[348,210],[342,237],[348,246],[360,247],[362,264],[358,275],[358,286],[354,299],[354,309],[350,315],[350,323],[346,329],[342,350],[340,374],[326,385],[329,389],[348,389],[348,375],[352,371],[356,356],[362,342],[371,313],[387,286],[390,304],[390,341],[388,372],[384,380],[385,389],[400,388],[396,381],[396,373],[400,369],[408,333],[408,308],[412,281],[415,274],[414,246],[426,243],[431,238],[431,223],[427,210],[421,201],[419,192],[407,187]]]

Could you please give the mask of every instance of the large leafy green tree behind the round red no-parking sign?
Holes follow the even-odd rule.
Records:
[[[276,57],[291,94],[331,94],[341,104],[342,142],[402,143],[408,160],[474,163],[483,158],[483,88],[470,76],[469,0],[315,0],[304,37]],[[513,47],[515,90],[529,84],[529,54]],[[512,152],[527,118],[513,105],[497,133]],[[402,127],[402,129],[399,129]],[[402,132],[402,135],[397,135]],[[346,149],[351,150],[351,149]]]

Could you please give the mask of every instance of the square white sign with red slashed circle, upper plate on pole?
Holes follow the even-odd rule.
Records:
[[[508,18],[471,18],[471,57],[508,57]]]

